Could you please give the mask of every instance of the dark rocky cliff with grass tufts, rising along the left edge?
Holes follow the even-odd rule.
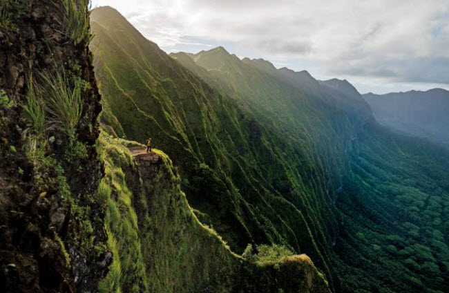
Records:
[[[0,2],[2,292],[91,292],[111,258],[104,209],[92,198],[102,177],[100,97],[89,37],[74,39],[68,21],[88,26],[88,14],[85,1],[78,14],[73,3]],[[48,100],[50,91],[76,95],[75,120],[64,120],[73,100]]]

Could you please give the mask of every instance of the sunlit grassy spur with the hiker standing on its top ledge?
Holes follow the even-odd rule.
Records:
[[[100,292],[329,292],[307,256],[250,263],[200,223],[171,160],[131,158],[135,142],[103,134],[98,197],[114,258]]]

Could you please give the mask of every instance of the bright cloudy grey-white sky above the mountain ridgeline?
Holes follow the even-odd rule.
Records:
[[[167,53],[216,46],[361,93],[449,90],[449,0],[92,0]]]

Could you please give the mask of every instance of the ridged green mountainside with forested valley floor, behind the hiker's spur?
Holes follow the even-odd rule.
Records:
[[[106,127],[153,138],[233,251],[307,253],[338,292],[448,289],[447,151],[378,126],[346,81],[221,47],[169,57],[111,8],[91,19]]]

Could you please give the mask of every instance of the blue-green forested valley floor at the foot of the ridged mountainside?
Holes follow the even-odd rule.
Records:
[[[448,151],[375,124],[356,144],[336,200],[341,291],[447,292]]]

